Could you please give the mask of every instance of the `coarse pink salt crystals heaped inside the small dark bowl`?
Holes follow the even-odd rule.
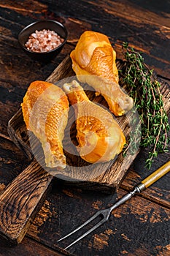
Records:
[[[25,46],[28,50],[32,50],[37,53],[47,52],[57,48],[64,41],[55,31],[53,30],[36,30],[32,33]]]

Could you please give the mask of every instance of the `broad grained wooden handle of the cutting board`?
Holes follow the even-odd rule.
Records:
[[[0,196],[0,235],[18,244],[39,210],[53,176],[36,160],[15,178]]]

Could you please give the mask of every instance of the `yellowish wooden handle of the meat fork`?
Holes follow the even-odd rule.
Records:
[[[141,181],[142,184],[144,184],[144,187],[150,187],[155,181],[158,181],[159,178],[163,177],[166,173],[169,173],[170,170],[170,161],[166,162],[165,165],[158,168],[158,170],[155,170],[154,173],[150,174],[147,178],[144,178],[143,181]]]

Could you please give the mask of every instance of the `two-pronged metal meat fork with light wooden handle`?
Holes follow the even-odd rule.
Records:
[[[93,219],[96,219],[97,217],[100,216],[102,219],[96,225],[91,227],[90,230],[88,230],[87,232],[82,234],[82,236],[80,236],[75,241],[73,241],[72,244],[69,244],[69,246],[66,246],[65,249],[68,249],[73,244],[76,244],[77,241],[80,241],[80,239],[84,238],[85,236],[88,236],[88,234],[91,233],[93,230],[96,230],[97,227],[99,227],[100,225],[104,224],[104,222],[107,222],[107,220],[109,219],[109,215],[111,214],[112,210],[114,210],[115,208],[117,208],[121,204],[125,203],[125,201],[127,201],[128,199],[133,197],[136,193],[140,193],[144,189],[146,189],[147,187],[150,187],[150,185],[152,185],[155,181],[158,181],[159,178],[161,178],[166,173],[168,173],[169,170],[170,170],[170,161],[166,162],[166,164],[161,166],[160,168],[158,168],[158,170],[155,170],[155,172],[150,174],[150,176],[147,176],[147,178],[144,178],[144,180],[141,181],[140,184],[138,184],[136,187],[134,187],[134,189],[131,192],[128,192],[128,194],[124,195],[113,206],[111,206],[111,207],[109,207],[107,209],[104,209],[104,210],[97,211],[96,214],[94,214],[92,217],[90,217],[90,219],[88,219],[86,222],[84,222],[82,225],[80,225],[80,227],[77,227],[71,233],[69,233],[68,235],[66,235],[63,238],[59,239],[58,242],[63,240],[63,239],[65,239],[65,238],[67,238],[67,237],[69,237],[69,236],[71,236],[73,233],[77,232],[82,227],[85,227],[85,225],[88,225],[89,222],[92,222]]]

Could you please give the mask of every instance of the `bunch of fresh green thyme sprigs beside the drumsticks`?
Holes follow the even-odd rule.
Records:
[[[155,80],[153,70],[147,67],[140,53],[128,47],[128,43],[123,43],[123,49],[126,61],[123,72],[124,82],[128,86],[130,96],[134,98],[134,105],[139,113],[140,145],[150,148],[146,160],[146,166],[150,169],[158,153],[168,151],[169,122],[166,110],[163,108],[161,84]]]

